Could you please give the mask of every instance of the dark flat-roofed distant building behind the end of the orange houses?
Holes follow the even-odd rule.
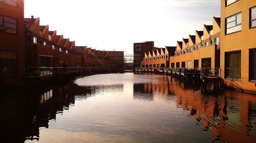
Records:
[[[146,41],[143,43],[134,43],[133,44],[133,53],[134,53],[134,68],[140,67],[141,61],[143,61],[143,57],[145,52],[153,51],[154,49],[154,41]]]

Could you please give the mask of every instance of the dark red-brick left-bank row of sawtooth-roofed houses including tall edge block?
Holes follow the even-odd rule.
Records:
[[[24,0],[0,0],[0,40],[1,84],[23,82],[28,67],[123,68],[123,51],[76,46],[39,18],[24,18]]]

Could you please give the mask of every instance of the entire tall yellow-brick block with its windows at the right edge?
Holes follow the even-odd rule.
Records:
[[[234,89],[256,92],[256,1],[221,1],[221,77]]]

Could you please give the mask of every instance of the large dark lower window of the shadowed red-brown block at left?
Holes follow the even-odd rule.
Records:
[[[17,53],[0,51],[0,77],[13,78],[17,73]]]

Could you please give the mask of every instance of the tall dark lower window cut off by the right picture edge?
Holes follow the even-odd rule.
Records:
[[[249,80],[256,81],[256,48],[249,49]]]

